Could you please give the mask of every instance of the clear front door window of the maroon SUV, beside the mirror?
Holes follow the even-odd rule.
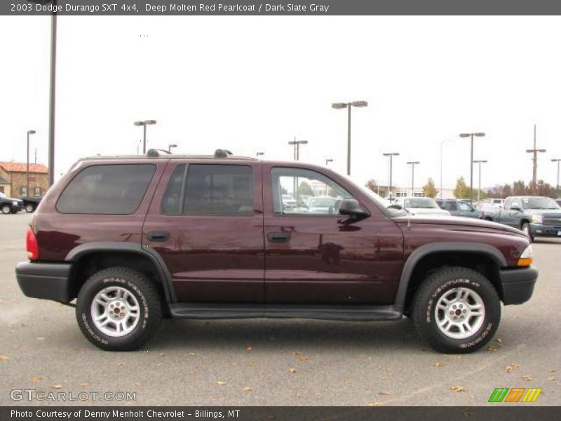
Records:
[[[276,215],[339,215],[342,199],[353,199],[343,187],[316,171],[273,168],[271,183]]]

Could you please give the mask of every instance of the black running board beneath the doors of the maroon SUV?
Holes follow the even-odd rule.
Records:
[[[170,304],[171,316],[182,319],[323,319],[347,321],[398,320],[402,313],[391,305],[253,305]]]

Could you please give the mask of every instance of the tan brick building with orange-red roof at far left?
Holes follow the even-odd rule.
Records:
[[[6,196],[43,196],[48,189],[48,168],[42,163],[29,163],[29,194],[27,163],[0,162],[0,192]]]

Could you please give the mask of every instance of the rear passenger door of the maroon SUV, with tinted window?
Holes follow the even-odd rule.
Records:
[[[257,161],[170,160],[143,244],[165,261],[178,302],[263,302],[260,173]]]

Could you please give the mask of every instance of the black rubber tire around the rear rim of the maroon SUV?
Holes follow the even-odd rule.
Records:
[[[92,319],[95,296],[111,286],[128,290],[140,307],[135,328],[119,337],[105,334]],[[93,274],[84,283],[76,302],[76,319],[83,335],[96,347],[107,351],[132,351],[142,347],[158,330],[162,319],[161,302],[156,287],[146,276],[127,267],[111,267]]]

